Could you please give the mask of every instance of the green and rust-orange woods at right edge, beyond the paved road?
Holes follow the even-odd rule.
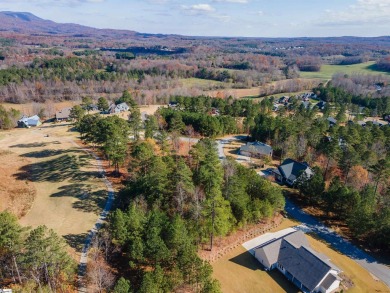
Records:
[[[340,97],[336,96],[335,100]],[[264,102],[266,103],[266,102]],[[312,178],[298,184],[307,204],[341,219],[355,237],[372,247],[388,249],[390,228],[390,127],[367,122],[365,127],[346,121],[346,105],[333,104],[327,115],[316,108],[298,107],[274,117],[265,108],[253,121],[251,136],[267,142],[282,161],[293,158],[315,167]]]

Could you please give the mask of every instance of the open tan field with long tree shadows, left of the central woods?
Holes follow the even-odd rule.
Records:
[[[76,133],[68,124],[2,134],[0,151],[8,155],[0,156],[0,166],[13,167],[5,174],[8,178],[1,179],[36,190],[35,200],[20,223],[46,225],[62,235],[73,251],[80,251],[107,197],[106,187],[97,176],[96,161],[74,143]],[[12,162],[10,155],[14,156]],[[9,202],[12,189],[2,196]]]

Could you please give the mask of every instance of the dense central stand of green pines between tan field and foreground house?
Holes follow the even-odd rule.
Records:
[[[118,209],[103,236],[110,245],[102,246],[98,258],[120,266],[114,292],[123,292],[122,286],[125,292],[220,292],[198,249],[212,249],[218,237],[283,210],[281,189],[234,160],[221,162],[210,138],[200,140],[188,156],[179,156],[170,140],[181,130],[167,133],[152,117],[145,123],[146,140],[132,142],[128,150],[127,131],[137,137],[139,127],[134,115],[127,126],[125,120],[116,124],[116,116],[89,114],[76,123],[82,138],[100,147],[113,164],[128,162]],[[105,247],[110,253],[103,253]]]

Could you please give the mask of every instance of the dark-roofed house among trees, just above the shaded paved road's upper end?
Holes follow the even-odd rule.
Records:
[[[314,175],[313,170],[306,163],[300,163],[293,159],[284,160],[273,173],[276,181],[286,183],[289,186],[293,186],[304,173],[307,178]]]

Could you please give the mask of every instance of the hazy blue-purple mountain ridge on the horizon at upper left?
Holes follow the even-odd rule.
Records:
[[[56,23],[35,16],[29,12],[0,12],[0,32],[20,34],[47,34],[69,36],[135,36],[137,32],[130,30],[97,29],[73,23]]]

